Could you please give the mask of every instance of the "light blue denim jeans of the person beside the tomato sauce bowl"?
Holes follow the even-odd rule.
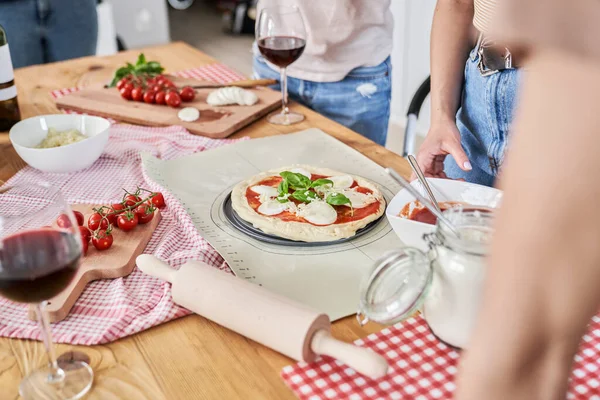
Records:
[[[520,72],[505,70],[484,77],[473,50],[465,66],[465,82],[456,125],[473,170],[463,171],[452,156],[444,171],[449,178],[492,186],[504,161],[515,109]]]

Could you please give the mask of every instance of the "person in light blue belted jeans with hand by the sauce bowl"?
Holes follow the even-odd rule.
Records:
[[[492,186],[502,167],[520,72],[518,57],[486,37],[495,3],[437,2],[431,32],[431,128],[417,154],[427,176]],[[480,32],[474,49],[472,25]]]

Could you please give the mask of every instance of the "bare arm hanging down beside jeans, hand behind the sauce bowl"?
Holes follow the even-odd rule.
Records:
[[[446,177],[444,159],[451,154],[470,170],[460,144],[456,112],[465,62],[472,47],[473,0],[438,0],[431,28],[431,127],[417,153],[427,176]]]

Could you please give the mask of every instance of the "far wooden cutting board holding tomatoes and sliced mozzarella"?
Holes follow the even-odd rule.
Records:
[[[172,80],[177,86],[215,84],[178,77],[173,77]],[[194,101],[182,103],[181,107],[196,107],[200,110],[200,118],[194,122],[183,122],[177,117],[181,108],[128,101],[121,97],[116,88],[85,88],[56,99],[56,105],[137,125],[180,125],[194,134],[213,139],[225,138],[281,105],[279,92],[269,88],[253,88],[246,89],[258,96],[258,102],[253,106],[212,107],[206,103],[206,97],[213,90],[215,89],[196,89]]]

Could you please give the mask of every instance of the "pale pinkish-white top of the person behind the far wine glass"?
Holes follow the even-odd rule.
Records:
[[[288,75],[315,82],[336,82],[357,67],[381,64],[392,52],[391,0],[260,0],[264,7],[298,7],[307,33],[302,56]],[[255,46],[255,51],[258,49]],[[271,68],[278,70],[271,65]]]

